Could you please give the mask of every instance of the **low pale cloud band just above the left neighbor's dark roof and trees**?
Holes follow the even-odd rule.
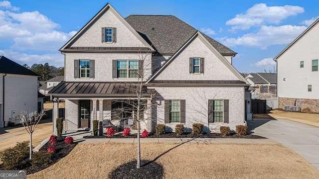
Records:
[[[56,67],[64,67],[64,57],[60,53],[36,55],[19,53],[11,50],[0,50],[0,55],[15,61],[20,65],[27,64],[30,66],[35,63],[49,63],[50,65],[54,65]]]

